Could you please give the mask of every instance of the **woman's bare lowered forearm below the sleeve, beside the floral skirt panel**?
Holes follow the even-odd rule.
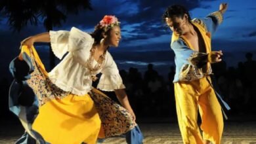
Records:
[[[129,111],[129,113],[131,113],[131,115],[133,116],[133,122],[135,122],[135,120],[136,120],[135,113],[133,112],[133,109],[131,108],[131,105],[129,103],[125,89],[115,90],[115,93],[116,93],[118,101],[121,103],[121,105],[123,107],[125,107],[125,109],[127,109],[127,111]]]

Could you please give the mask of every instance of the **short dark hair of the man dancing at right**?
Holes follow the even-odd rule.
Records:
[[[190,14],[185,7],[183,7],[182,5],[172,5],[171,7],[167,7],[165,12],[163,13],[162,20],[163,22],[165,22],[165,18],[183,18],[184,14],[188,15],[188,22],[190,22]]]

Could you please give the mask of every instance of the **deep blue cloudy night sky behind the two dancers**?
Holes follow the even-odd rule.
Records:
[[[203,18],[219,10],[220,3],[228,3],[228,10],[224,14],[223,24],[213,35],[212,48],[223,50],[226,63],[236,66],[237,62],[245,61],[245,52],[253,52],[256,55],[256,2],[253,0],[94,0],[91,1],[93,10],[81,10],[78,15],[69,15],[66,22],[63,22],[61,27],[54,27],[54,30],[70,30],[74,26],[91,32],[104,15],[116,15],[121,22],[122,40],[119,47],[110,48],[110,52],[119,69],[137,67],[144,71],[148,63],[154,63],[156,69],[165,75],[169,66],[173,65],[174,56],[169,46],[171,31],[161,21],[164,10],[169,5],[182,4],[188,8],[192,18]],[[19,42],[44,31],[42,24],[38,24],[25,27],[20,33],[12,32],[7,24],[7,18],[0,16],[0,52],[3,69],[1,77],[9,75],[9,62],[18,54]],[[47,60],[47,47],[39,45],[37,49],[42,51],[42,59]]]

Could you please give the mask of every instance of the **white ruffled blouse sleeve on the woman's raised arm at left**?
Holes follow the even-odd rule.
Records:
[[[62,59],[64,54],[68,52],[68,37],[70,31],[49,31],[49,34],[54,55],[57,58]]]

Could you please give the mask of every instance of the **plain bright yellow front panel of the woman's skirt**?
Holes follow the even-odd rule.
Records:
[[[39,107],[32,128],[53,144],[96,143],[100,118],[88,94],[82,97],[70,94]]]

